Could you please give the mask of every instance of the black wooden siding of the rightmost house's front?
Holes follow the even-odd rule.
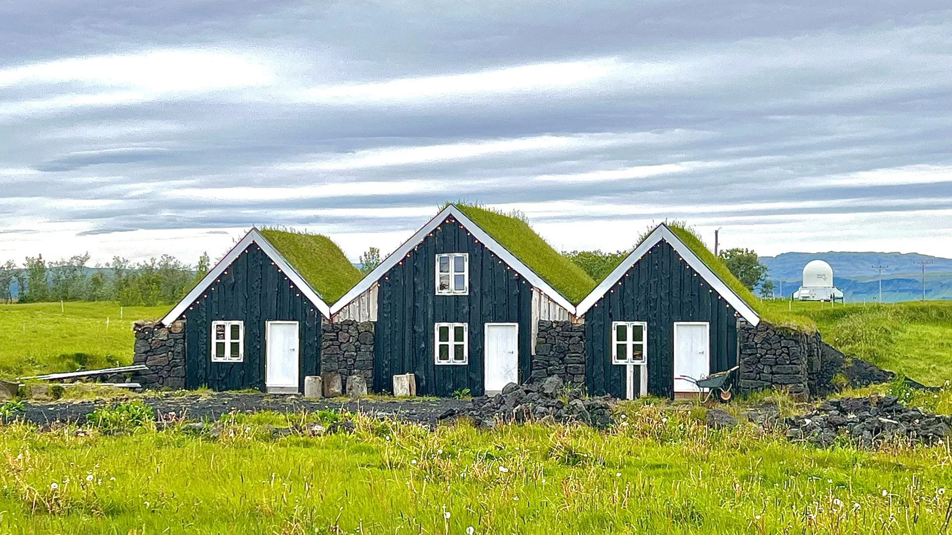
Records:
[[[611,364],[611,323],[647,322],[648,393],[674,393],[674,322],[710,323],[710,370],[737,364],[737,317],[733,307],[691,269],[674,248],[660,242],[628,269],[619,284],[585,312],[586,386],[589,393],[625,398],[625,366]],[[635,395],[640,392],[637,375]]]

